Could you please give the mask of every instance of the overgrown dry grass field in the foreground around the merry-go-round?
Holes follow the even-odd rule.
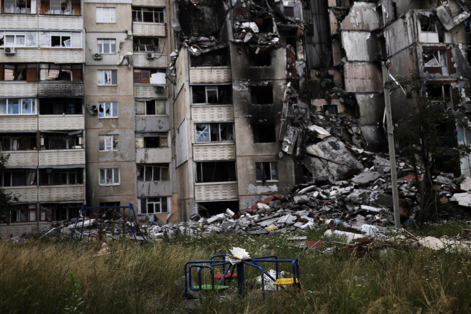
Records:
[[[451,222],[411,232],[455,236],[463,227],[470,225]],[[301,235],[317,240],[323,232]],[[406,246],[355,257],[332,255],[297,247],[287,241],[292,235],[180,235],[144,246],[114,241],[109,243],[112,253],[101,256],[96,256],[96,244],[65,239],[2,242],[0,313],[185,313],[183,291],[174,285],[183,276],[184,262],[229,253],[233,246],[253,257],[298,257],[303,292],[272,291],[262,300],[251,280],[258,273],[246,268],[245,297],[207,293],[193,313],[471,312],[469,253]]]

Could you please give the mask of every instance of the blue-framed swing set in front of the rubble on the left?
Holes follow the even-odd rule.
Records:
[[[133,224],[132,224],[132,217],[134,217],[134,221],[135,221],[137,231],[141,235],[142,240],[145,240],[145,237],[141,233],[141,230],[140,230],[139,225],[137,223],[136,212],[134,211],[134,207],[132,206],[131,203],[129,203],[128,206],[97,206],[97,207],[87,207],[85,204],[83,204],[82,207],[80,208],[80,210],[78,211],[78,217],[77,217],[77,220],[75,221],[74,229],[72,230],[72,235],[70,236],[70,241],[72,241],[74,239],[74,234],[77,230],[77,224],[80,220],[80,217],[83,214],[83,216],[82,216],[83,220],[81,221],[82,226],[80,228],[80,241],[82,240],[83,226],[84,226],[85,220],[86,220],[85,215],[88,212],[88,236],[87,236],[87,240],[88,240],[88,242],[96,242],[96,243],[101,242],[101,240],[102,240],[102,220],[103,220],[102,210],[103,209],[113,209],[113,211],[112,211],[113,217],[114,217],[114,209],[123,209],[123,236],[126,236],[126,215],[125,215],[125,212],[126,212],[126,209],[129,209],[129,215],[128,216],[129,216],[129,222],[131,224],[131,232],[132,232],[132,235],[134,237],[134,241],[137,242],[139,239],[137,238],[136,233],[134,232],[134,227],[133,227]],[[98,232],[98,241],[93,241],[93,239],[96,236],[91,235],[92,210],[99,210],[100,211],[99,212],[100,229],[99,229],[99,232]],[[132,210],[132,216],[131,216],[131,210]],[[112,219],[112,221],[114,221],[114,220]],[[113,226],[113,230],[114,230],[114,226]]]

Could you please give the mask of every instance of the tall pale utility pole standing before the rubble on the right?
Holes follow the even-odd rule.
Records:
[[[384,61],[381,62],[381,70],[383,72],[384,84],[384,105],[386,110],[386,122],[388,125],[388,146],[389,146],[389,159],[391,161],[391,182],[392,182],[392,208],[394,210],[394,227],[401,228],[399,217],[399,193],[397,190],[397,173],[396,173],[396,155],[394,148],[394,128],[392,126],[392,113],[391,113],[391,80],[389,77],[389,64],[386,65]]]

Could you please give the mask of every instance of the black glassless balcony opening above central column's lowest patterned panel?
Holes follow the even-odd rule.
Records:
[[[196,162],[196,183],[237,181],[235,161]]]

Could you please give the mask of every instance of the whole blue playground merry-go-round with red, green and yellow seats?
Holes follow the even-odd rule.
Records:
[[[229,286],[221,285],[223,280],[232,278],[237,278],[237,291],[238,294],[244,293],[245,287],[245,278],[244,278],[244,265],[249,265],[251,267],[255,267],[260,270],[261,280],[262,280],[262,296],[265,298],[265,283],[264,283],[264,274],[268,276],[270,280],[273,281],[273,285],[277,286],[285,286],[285,285],[292,285],[293,288],[297,288],[301,291],[301,283],[299,281],[299,263],[298,258],[293,260],[279,260],[275,255],[269,256],[262,256],[262,257],[254,257],[249,260],[241,261],[236,264],[232,264],[227,260],[215,260],[215,258],[226,258],[226,256],[233,256],[232,254],[218,254],[213,255],[207,261],[189,261],[185,263],[184,266],[184,275],[185,275],[185,298],[188,299],[188,287],[190,290],[193,291],[202,291],[202,290],[224,290],[228,289]],[[266,272],[259,263],[275,263],[275,278],[273,278],[268,272]],[[278,263],[288,262],[292,265],[292,274],[293,277],[289,278],[278,278]],[[227,267],[225,267],[228,265]],[[214,274],[214,267],[216,266],[223,266],[225,268],[224,273],[222,274]],[[232,267],[232,271],[229,273],[229,270]],[[234,268],[236,267],[237,273],[234,273]],[[196,286],[192,285],[192,276],[191,276],[191,269],[197,268],[198,269],[198,284]],[[202,278],[201,278],[201,271],[205,268],[208,268],[211,274],[211,284],[203,285]],[[217,285],[214,284],[214,279],[219,279]],[[189,282],[189,285],[188,285]]]

